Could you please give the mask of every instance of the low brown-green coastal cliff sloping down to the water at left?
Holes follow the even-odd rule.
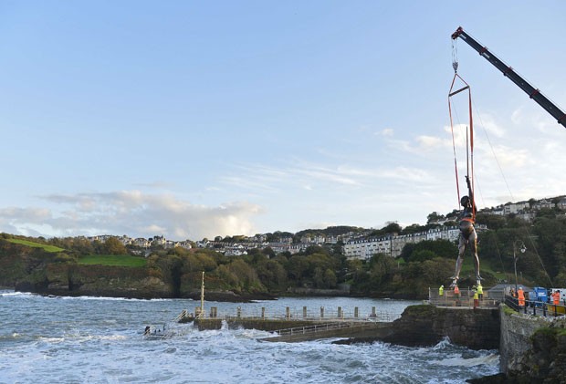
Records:
[[[55,296],[200,299],[201,273],[181,274],[167,265],[81,265],[73,257],[0,240],[0,286]],[[261,291],[233,291],[206,278],[209,300],[269,299]]]

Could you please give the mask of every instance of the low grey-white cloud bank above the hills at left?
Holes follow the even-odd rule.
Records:
[[[173,195],[139,191],[49,195],[51,209],[5,208],[0,229],[15,234],[45,235],[128,234],[173,236],[175,240],[214,237],[217,234],[254,234],[251,218],[262,209],[249,202],[209,207],[184,202]],[[14,229],[17,231],[14,231]],[[37,228],[40,228],[37,230]]]

